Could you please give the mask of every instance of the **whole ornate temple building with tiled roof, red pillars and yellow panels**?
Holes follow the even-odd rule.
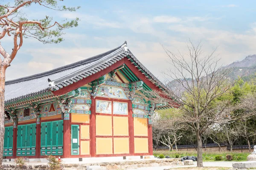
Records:
[[[163,90],[127,48],[6,81],[4,156],[15,159],[152,156],[151,115]]]

